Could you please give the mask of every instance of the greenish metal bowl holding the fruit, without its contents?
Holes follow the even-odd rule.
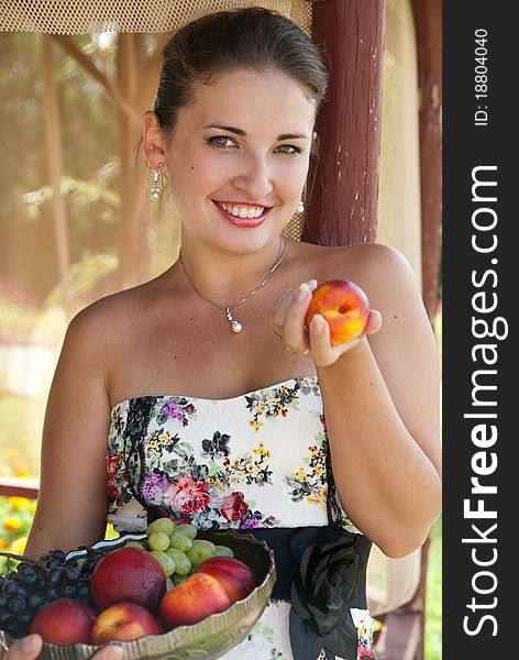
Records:
[[[130,535],[112,541],[100,541],[95,549],[114,550],[128,540],[140,540],[144,535]],[[245,562],[257,580],[256,588],[243,601],[238,601],[225,612],[208,616],[192,626],[179,626],[163,635],[148,635],[133,641],[117,642],[123,648],[123,660],[214,660],[238,646],[262,616],[276,582],[274,552],[265,541],[251,534],[233,530],[199,531],[198,539],[228,546],[234,557]],[[69,557],[80,557],[86,550],[76,550]],[[108,642],[110,644],[110,642]],[[107,646],[107,645],[103,645]],[[57,646],[44,644],[40,656],[43,660],[87,660],[101,646],[76,644]]]

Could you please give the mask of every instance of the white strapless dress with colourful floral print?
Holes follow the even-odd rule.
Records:
[[[317,376],[228,399],[123,400],[111,413],[107,468],[108,520],[119,531],[168,516],[199,529],[333,526],[360,534],[336,497]],[[289,612],[288,601],[270,601],[225,660],[292,660]],[[366,609],[351,615],[358,644],[356,658],[345,660],[371,660],[373,620]]]

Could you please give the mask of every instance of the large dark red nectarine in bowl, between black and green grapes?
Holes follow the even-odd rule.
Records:
[[[104,609],[126,601],[155,608],[166,592],[166,575],[158,561],[139,548],[121,548],[103,557],[93,570],[90,595]]]

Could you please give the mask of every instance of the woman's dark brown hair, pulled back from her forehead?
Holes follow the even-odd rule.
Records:
[[[298,81],[316,112],[328,75],[318,47],[284,15],[262,8],[221,11],[178,30],[164,47],[154,111],[172,132],[197,84],[236,69],[276,70]]]

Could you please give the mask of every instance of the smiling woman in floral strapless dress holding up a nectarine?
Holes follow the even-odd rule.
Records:
[[[126,529],[147,514],[265,531],[279,557],[350,543],[358,586],[331,631],[301,618],[303,592],[290,615],[288,585],[230,660],[373,658],[367,539],[406,556],[440,512],[438,356],[410,268],[382,245],[283,237],[325,86],[311,41],[267,10],[176,33],[143,147],[152,198],[167,180],[181,218],[180,256],[71,321],[45,419],[27,556],[98,541],[107,510]],[[332,346],[327,321],[307,330],[305,316],[334,278],[358,284],[372,312]]]

